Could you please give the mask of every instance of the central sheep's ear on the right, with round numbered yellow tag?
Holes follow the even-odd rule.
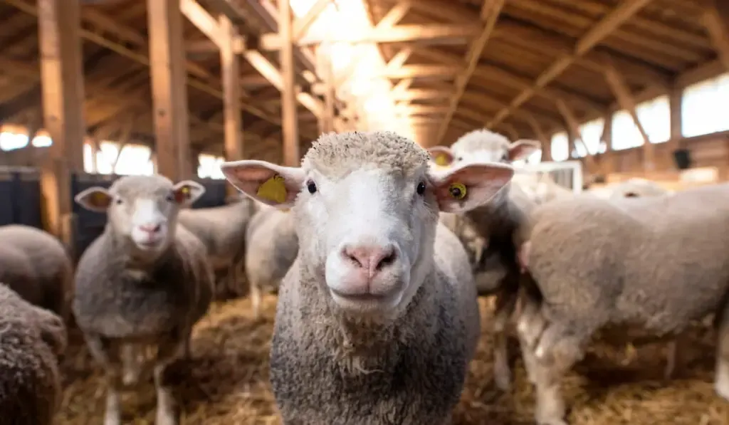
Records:
[[[488,203],[513,175],[511,165],[469,163],[443,171],[429,171],[429,182],[440,211],[462,213]]]

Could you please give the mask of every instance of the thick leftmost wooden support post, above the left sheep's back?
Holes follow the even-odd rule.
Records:
[[[38,0],[43,121],[53,144],[41,165],[44,227],[73,250],[71,173],[83,171],[84,77],[79,1]]]

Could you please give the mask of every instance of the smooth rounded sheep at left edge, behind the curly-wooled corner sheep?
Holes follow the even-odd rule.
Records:
[[[30,303],[69,322],[74,267],[63,243],[50,233],[24,225],[0,226],[0,241],[4,244],[0,274],[13,275],[6,283]],[[16,285],[18,278],[20,283]]]

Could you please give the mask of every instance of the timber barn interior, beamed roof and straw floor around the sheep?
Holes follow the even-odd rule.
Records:
[[[477,128],[539,141],[525,166],[563,170],[576,192],[635,177],[671,190],[724,182],[729,2],[0,0],[0,225],[47,230],[74,258],[106,220],[74,195],[118,176],[196,179],[206,194],[193,208],[222,206],[235,192],[226,160],[297,165],[331,131],[432,147]],[[510,393],[494,386],[490,300],[480,305],[454,424],[532,424],[523,369]],[[185,424],[281,423],[275,311],[268,295],[254,319],[243,297],[198,324],[195,359],[175,370]],[[712,332],[696,325],[668,382],[665,347],[596,342],[565,383],[569,423],[729,424]],[[57,423],[98,424],[103,373],[72,337]],[[129,424],[152,423],[152,386],[124,403]]]

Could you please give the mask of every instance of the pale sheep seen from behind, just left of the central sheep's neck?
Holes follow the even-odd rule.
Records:
[[[246,251],[246,275],[251,286],[253,314],[259,319],[262,289],[278,288],[299,251],[292,214],[263,206],[249,223],[246,241],[250,244]]]

